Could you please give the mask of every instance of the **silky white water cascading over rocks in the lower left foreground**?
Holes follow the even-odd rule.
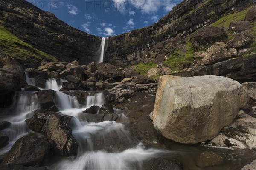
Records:
[[[27,82],[36,85],[35,79],[26,77]],[[55,105],[59,113],[73,116],[70,127],[72,134],[79,144],[77,156],[64,158],[49,166],[52,170],[127,170],[143,169],[143,161],[163,156],[167,152],[157,149],[146,149],[143,144],[130,133],[122,123],[104,121],[99,123],[86,122],[78,119],[79,114],[92,105],[102,106],[105,104],[103,93],[87,96],[86,104],[79,107],[75,96],[69,96],[58,91],[61,86],[56,79],[48,79],[45,89],[55,90]],[[9,145],[0,149],[0,155],[7,153],[17,139],[26,135],[28,129],[26,119],[33,115],[38,98],[34,92],[23,91],[17,101],[14,101],[15,115],[2,117],[1,120],[11,122],[11,126],[1,131],[9,136]],[[124,116],[124,115],[122,115]],[[121,117],[122,117],[121,116]]]

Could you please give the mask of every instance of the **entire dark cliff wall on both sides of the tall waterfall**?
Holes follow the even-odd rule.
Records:
[[[250,0],[184,0],[154,25],[110,37],[104,62],[126,66],[163,51],[169,55],[184,35],[249,5]],[[0,0],[0,25],[60,61],[78,60],[82,65],[99,57],[100,37],[72,28],[25,0]]]

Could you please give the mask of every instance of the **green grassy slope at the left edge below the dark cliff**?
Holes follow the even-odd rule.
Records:
[[[26,42],[23,42],[1,25],[0,50],[18,60],[30,60],[32,62],[41,62],[43,60],[57,61],[55,57],[39,51]]]

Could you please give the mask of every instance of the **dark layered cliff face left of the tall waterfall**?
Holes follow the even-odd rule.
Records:
[[[72,28],[25,0],[0,0],[0,25],[34,48],[65,62],[94,62],[101,42],[100,37]]]

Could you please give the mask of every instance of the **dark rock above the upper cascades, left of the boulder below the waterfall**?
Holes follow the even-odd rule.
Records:
[[[75,77],[79,77],[81,80],[84,80],[84,68],[81,66],[71,66],[60,72],[60,76],[63,78],[67,75],[73,75]]]

